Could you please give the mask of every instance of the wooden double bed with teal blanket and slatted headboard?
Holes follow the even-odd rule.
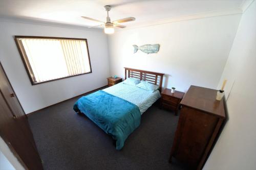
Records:
[[[159,85],[159,90],[148,91],[121,82],[82,96],[74,104],[74,110],[77,113],[85,114],[106,134],[112,136],[116,141],[117,150],[123,148],[126,138],[140,125],[141,115],[160,99],[164,75],[127,67],[124,69],[125,80],[137,78]]]

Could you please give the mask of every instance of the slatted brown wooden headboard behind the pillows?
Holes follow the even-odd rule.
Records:
[[[137,78],[143,81],[147,81],[148,83],[159,85],[159,91],[161,92],[164,74],[159,72],[145,71],[145,70],[127,68],[127,67],[124,67],[124,69],[125,69],[124,80],[126,79],[126,77],[128,77],[128,78]]]

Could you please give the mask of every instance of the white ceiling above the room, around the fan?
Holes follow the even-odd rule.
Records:
[[[246,0],[245,0],[246,1]],[[68,23],[78,26],[96,26],[97,22],[80,16],[105,21],[103,6],[111,5],[111,20],[135,17],[134,26],[163,19],[218,11],[241,10],[244,0],[0,0],[0,17]]]

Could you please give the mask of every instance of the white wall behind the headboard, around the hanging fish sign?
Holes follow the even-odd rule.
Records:
[[[109,36],[111,75],[123,67],[162,72],[164,86],[186,91],[190,85],[216,88],[241,15],[185,20],[118,31]],[[160,44],[157,54],[133,54],[133,44]]]

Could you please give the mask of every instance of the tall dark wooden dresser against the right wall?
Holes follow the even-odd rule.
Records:
[[[181,101],[181,111],[172,157],[191,169],[202,169],[225,119],[224,101],[216,100],[217,90],[190,86]]]

